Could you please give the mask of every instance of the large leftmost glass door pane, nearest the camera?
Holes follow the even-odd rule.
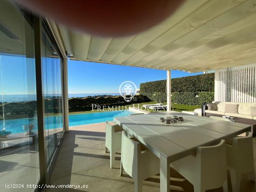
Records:
[[[27,184],[40,179],[33,23],[29,13],[0,1],[1,192],[34,191]]]

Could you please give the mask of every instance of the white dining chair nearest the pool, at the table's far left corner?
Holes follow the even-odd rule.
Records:
[[[121,149],[122,127],[114,122],[106,122],[106,151],[110,152],[110,168],[114,167],[115,152]]]

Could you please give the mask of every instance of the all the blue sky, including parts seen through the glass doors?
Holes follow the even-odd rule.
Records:
[[[4,94],[35,94],[34,59],[1,55],[2,80]],[[55,61],[49,60],[47,76],[49,81],[47,92],[59,92],[51,87],[51,78],[59,76],[52,66]],[[55,70],[54,70],[55,69]],[[51,71],[54,71],[51,73]],[[172,78],[196,75],[201,73],[185,73],[172,71]],[[123,81],[133,81],[137,88],[148,81],[166,79],[166,71],[132,66],[109,65],[94,62],[68,60],[68,93],[118,93]],[[0,85],[1,88],[1,85]]]

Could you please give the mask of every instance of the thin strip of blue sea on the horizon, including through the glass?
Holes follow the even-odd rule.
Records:
[[[78,93],[78,94],[68,94],[68,98],[76,98],[76,97],[88,97],[88,96],[97,96],[97,95],[107,95],[107,96],[117,96],[119,93]],[[55,98],[59,97],[60,94],[47,94],[46,98]],[[7,103],[13,102],[27,102],[36,100],[35,94],[17,94],[17,95],[4,95],[3,101]],[[0,102],[2,102],[2,95],[0,95]]]

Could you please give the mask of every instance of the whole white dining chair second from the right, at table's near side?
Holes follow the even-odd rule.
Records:
[[[228,192],[225,141],[216,146],[198,147],[196,155],[189,155],[171,163],[177,172],[194,185],[194,192],[223,187]]]

